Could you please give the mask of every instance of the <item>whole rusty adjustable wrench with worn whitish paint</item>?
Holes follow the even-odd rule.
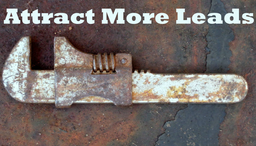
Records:
[[[83,53],[65,37],[54,39],[54,71],[30,67],[30,38],[15,45],[3,69],[12,97],[29,103],[235,103],[245,98],[246,80],[237,74],[132,73],[130,54]]]

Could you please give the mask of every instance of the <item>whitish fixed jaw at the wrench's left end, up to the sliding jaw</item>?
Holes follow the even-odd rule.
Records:
[[[22,37],[5,62],[3,84],[11,97],[20,102],[53,102],[54,72],[31,70],[30,52],[30,37]]]

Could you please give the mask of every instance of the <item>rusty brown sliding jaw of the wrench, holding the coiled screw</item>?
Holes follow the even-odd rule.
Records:
[[[54,50],[57,108],[70,107],[73,102],[92,96],[110,100],[116,106],[132,105],[131,54],[115,55],[116,73],[105,74],[104,67],[101,66],[99,68],[102,73],[95,74],[93,73],[93,55],[78,51],[65,37],[55,38]],[[101,54],[99,56],[101,61]],[[122,63],[122,60],[126,62]]]

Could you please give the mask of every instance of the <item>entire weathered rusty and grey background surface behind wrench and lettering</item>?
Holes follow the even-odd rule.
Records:
[[[17,102],[0,82],[1,146],[256,145],[255,24],[176,24],[176,8],[185,8],[185,17],[192,17],[196,12],[205,16],[212,11],[225,14],[232,8],[240,8],[242,15],[256,12],[255,1],[10,0],[0,1],[0,6],[0,72],[11,49],[22,36],[32,37],[32,69],[53,70],[53,40],[55,36],[64,36],[86,53],[130,53],[133,70],[222,73],[230,69],[228,73],[241,74],[249,83],[246,99],[227,106],[148,104],[118,108],[110,104],[73,104],[69,109],[56,109],[54,104]],[[7,8],[18,8],[19,16],[26,9],[29,12],[38,9],[40,13],[64,12],[69,18],[73,13],[93,9],[95,24],[85,21],[77,25],[70,21],[70,24],[62,25],[55,24],[53,19],[49,25],[32,24],[32,20],[31,24],[3,24]],[[140,22],[133,25],[127,21],[125,24],[101,24],[102,8],[124,8],[124,18],[132,12],[140,15],[164,12],[170,21],[164,25],[157,24],[154,19],[153,24]]]

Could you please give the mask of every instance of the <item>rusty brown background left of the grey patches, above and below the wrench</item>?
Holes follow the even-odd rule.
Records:
[[[0,4],[1,19],[6,17],[6,8],[18,8],[19,13],[26,9],[29,12],[39,9],[41,13],[65,12],[69,17],[72,13],[93,9],[97,16],[93,25],[6,25],[1,20],[0,72],[12,47],[22,36],[32,36],[33,70],[54,69],[55,36],[65,36],[79,50],[91,54],[130,53],[133,70],[149,69],[154,73],[203,73],[206,70],[207,24],[176,25],[175,9],[185,8],[185,17],[191,17],[195,11],[207,13],[210,0],[10,0]],[[165,25],[156,24],[154,19],[152,25],[102,25],[101,8],[125,8],[125,16],[131,12],[165,12],[170,21]],[[60,110],[53,104],[17,102],[7,94],[1,82],[0,87],[0,142],[4,146],[155,145],[157,136],[164,132],[165,121],[174,120],[177,111],[186,107],[185,104],[138,104],[132,108],[75,104],[70,109]]]

